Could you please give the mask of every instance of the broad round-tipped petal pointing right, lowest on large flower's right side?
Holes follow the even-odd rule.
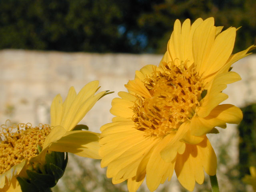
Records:
[[[192,135],[201,136],[215,126],[223,128],[226,127],[226,123],[238,124],[242,118],[240,108],[230,104],[218,105],[205,118],[194,116],[190,123],[190,132]]]

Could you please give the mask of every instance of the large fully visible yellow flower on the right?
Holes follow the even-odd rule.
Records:
[[[128,82],[127,92],[112,100],[116,117],[101,127],[101,166],[113,184],[128,180],[136,191],[146,177],[150,191],[170,181],[192,191],[204,171],[216,174],[216,155],[206,136],[215,126],[238,124],[242,112],[230,104],[226,84],[240,80],[231,64],[250,48],[231,55],[236,28],[221,32],[214,18],[174,23],[167,52],[159,66],[146,65]]]

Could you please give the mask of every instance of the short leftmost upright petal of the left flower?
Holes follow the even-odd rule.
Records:
[[[51,105],[51,126],[60,125],[62,120],[62,98],[60,94],[56,95]]]

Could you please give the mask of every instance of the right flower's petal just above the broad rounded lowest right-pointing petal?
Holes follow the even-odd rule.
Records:
[[[200,101],[200,107],[196,108],[196,113],[200,117],[206,117],[210,114],[213,108],[215,108],[222,101],[226,100],[228,96],[222,93],[227,85],[233,82],[241,80],[241,77],[236,72],[226,72],[218,74],[214,80],[206,96]]]

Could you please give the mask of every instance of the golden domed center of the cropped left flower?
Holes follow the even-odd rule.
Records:
[[[0,174],[20,164],[24,159],[30,160],[38,155],[38,146],[42,148],[51,130],[48,124],[32,127],[30,123],[10,127],[2,125],[1,129],[0,136],[4,139],[0,143]]]

